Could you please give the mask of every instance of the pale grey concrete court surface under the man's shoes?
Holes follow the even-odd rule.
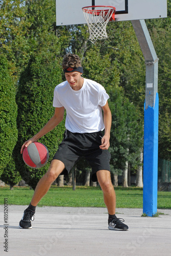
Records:
[[[166,256],[171,255],[171,210],[141,217],[142,209],[117,208],[128,231],[109,230],[106,208],[37,207],[32,229],[19,229],[26,206],[0,206],[0,255],[8,256]],[[8,252],[4,251],[8,234]]]

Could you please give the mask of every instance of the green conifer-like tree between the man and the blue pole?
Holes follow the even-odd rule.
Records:
[[[138,157],[142,147],[142,125],[136,108],[124,97],[120,88],[108,91],[109,105],[112,113],[110,137],[111,165],[116,172],[126,172],[130,163],[134,168],[139,165]],[[127,174],[124,174],[127,180]],[[127,183],[127,182],[126,182]]]

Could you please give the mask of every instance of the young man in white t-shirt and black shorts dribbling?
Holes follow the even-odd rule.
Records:
[[[30,140],[21,147],[27,147],[50,132],[63,119],[66,110],[64,139],[59,145],[50,168],[38,182],[29,207],[24,211],[19,223],[20,228],[32,228],[31,220],[41,198],[60,174],[68,174],[75,162],[85,157],[92,167],[92,181],[98,181],[104,194],[108,209],[108,228],[128,230],[128,226],[115,216],[116,198],[110,178],[109,139],[111,112],[109,96],[97,82],[85,79],[78,55],[66,54],[62,68],[66,81],[58,84],[54,91],[54,116]],[[103,114],[102,114],[103,110]],[[103,117],[104,116],[104,117]],[[105,129],[104,135],[101,131]]]

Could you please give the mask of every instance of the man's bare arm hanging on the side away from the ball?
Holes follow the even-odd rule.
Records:
[[[103,118],[104,118],[104,124],[105,124],[105,135],[102,138],[102,145],[100,145],[100,148],[102,150],[108,150],[110,146],[110,129],[111,129],[111,123],[112,123],[112,115],[111,111],[109,109],[108,101],[104,106],[102,106],[103,109]]]

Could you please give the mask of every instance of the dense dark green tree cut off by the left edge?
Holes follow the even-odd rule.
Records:
[[[17,141],[17,104],[8,61],[0,56],[0,175],[11,159]]]

